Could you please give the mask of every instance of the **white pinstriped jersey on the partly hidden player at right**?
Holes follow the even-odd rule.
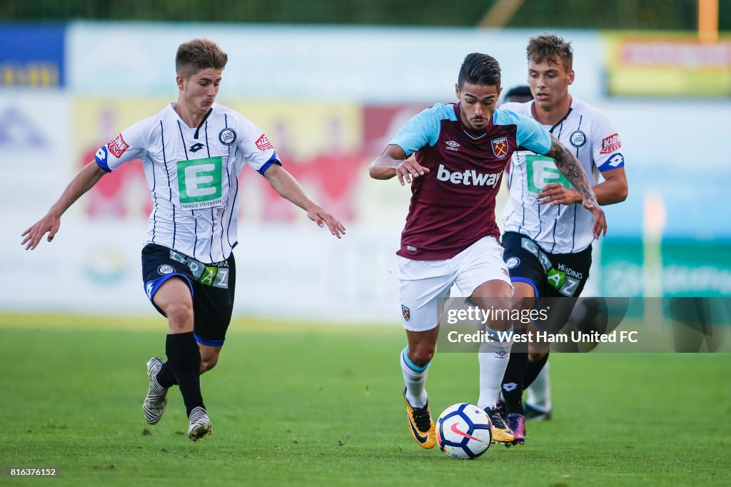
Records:
[[[533,117],[533,102],[505,103],[501,108]],[[572,97],[567,116],[555,126],[544,126],[570,150],[586,171],[589,183],[599,182],[599,173],[624,167],[622,144],[607,116],[599,109]],[[553,159],[530,151],[516,151],[507,178],[510,197],[503,215],[504,230],[527,235],[545,252],[569,254],[586,249],[594,241],[594,218],[580,203],[539,205],[536,196],[546,184],[571,187]]]

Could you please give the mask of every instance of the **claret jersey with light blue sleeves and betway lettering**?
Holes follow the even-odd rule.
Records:
[[[391,140],[430,172],[412,182],[401,234],[401,257],[443,260],[485,236],[499,237],[495,197],[519,147],[545,154],[548,131],[510,110],[495,110],[480,131],[466,128],[458,104],[436,104],[409,120]]]

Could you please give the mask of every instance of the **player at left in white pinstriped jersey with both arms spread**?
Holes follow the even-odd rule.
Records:
[[[53,240],[61,215],[100,178],[142,159],[153,210],[142,251],[148,298],[167,317],[167,362],[147,363],[145,417],[156,424],[167,391],[178,385],[193,441],[211,434],[200,374],[218,363],[231,320],[235,288],[233,248],[238,243],[238,174],[246,162],[284,198],[340,238],[343,225],[310,200],[251,121],[214,103],[227,55],[207,39],[178,47],[178,102],[145,118],[99,148],[58,201],[23,233],[26,249],[43,235]]]

